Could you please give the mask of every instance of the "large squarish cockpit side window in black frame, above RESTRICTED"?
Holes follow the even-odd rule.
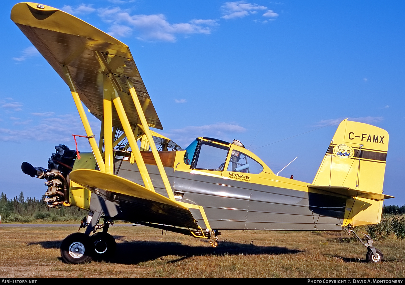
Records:
[[[210,142],[201,142],[194,168],[223,171],[228,149]]]

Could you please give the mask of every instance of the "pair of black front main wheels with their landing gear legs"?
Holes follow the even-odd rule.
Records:
[[[113,257],[117,244],[114,237],[107,233],[110,223],[111,220],[102,225],[90,227],[83,219],[80,227],[87,227],[86,232],[72,233],[62,241],[60,246],[62,260],[66,263],[81,264],[89,263],[93,259],[100,261]],[[91,231],[101,228],[102,232],[88,235]]]

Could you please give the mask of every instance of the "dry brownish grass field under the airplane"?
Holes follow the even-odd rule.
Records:
[[[367,249],[341,232],[221,231],[212,248],[177,233],[113,226],[113,259],[65,264],[60,243],[75,231],[0,227],[0,277],[405,277],[405,240],[395,236],[377,242],[384,262],[370,264]]]

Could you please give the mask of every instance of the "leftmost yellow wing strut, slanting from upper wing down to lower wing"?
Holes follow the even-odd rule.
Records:
[[[73,83],[72,77],[70,76],[69,69],[66,65],[61,65],[61,67],[62,67],[63,73],[65,75],[65,78],[66,78],[66,83],[68,84],[68,86],[70,88],[70,93],[72,93],[73,100],[75,101],[75,105],[76,105],[77,111],[79,112],[81,122],[83,123],[83,127],[86,132],[86,136],[89,139],[90,147],[92,148],[94,158],[96,158],[98,169],[100,169],[100,171],[104,172],[105,171],[104,161],[102,160],[102,156],[101,156],[100,150],[98,149],[96,139],[94,138],[92,128],[90,127],[89,121],[87,120],[87,116],[83,109],[83,105],[81,104],[79,94],[77,93],[75,84]]]

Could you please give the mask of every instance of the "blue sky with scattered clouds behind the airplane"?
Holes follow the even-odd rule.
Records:
[[[21,162],[46,167],[55,145],[74,148],[71,134],[84,130],[66,84],[10,20],[15,3],[5,1],[0,12],[0,191],[40,197],[43,181],[24,175]],[[274,172],[298,156],[280,175],[312,182],[337,128],[330,124],[371,123],[390,134],[384,193],[396,198],[386,203],[405,204],[403,2],[41,4],[130,47],[161,133],[179,145],[236,138]],[[87,142],[79,150],[88,151]]]

